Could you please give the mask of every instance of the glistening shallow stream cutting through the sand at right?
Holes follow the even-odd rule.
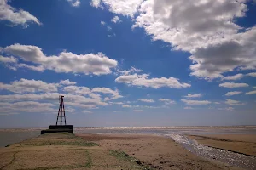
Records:
[[[198,156],[222,161],[230,164],[231,166],[256,169],[256,157],[254,156],[245,156],[231,151],[215,149],[197,144],[195,140],[189,139],[182,134],[166,134],[165,136],[170,137],[178,144],[182,144],[183,147]]]

